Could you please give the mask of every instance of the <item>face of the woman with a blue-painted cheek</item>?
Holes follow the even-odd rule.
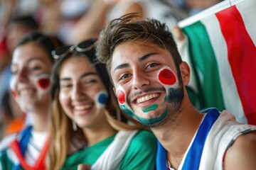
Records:
[[[70,57],[60,67],[59,101],[63,110],[80,128],[106,121],[105,86],[95,67],[85,57]]]

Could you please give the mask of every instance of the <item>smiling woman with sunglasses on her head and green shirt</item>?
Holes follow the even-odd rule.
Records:
[[[96,43],[92,38],[53,52],[48,169],[155,169],[156,138],[118,120],[105,65],[95,61]]]

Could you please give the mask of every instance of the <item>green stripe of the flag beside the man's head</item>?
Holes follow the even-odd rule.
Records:
[[[183,32],[188,36],[191,69],[196,74],[198,92],[202,94],[201,108],[216,107],[222,111],[225,106],[218,65],[206,28],[198,21],[184,27]]]

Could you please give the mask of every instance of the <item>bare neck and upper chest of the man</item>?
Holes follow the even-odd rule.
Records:
[[[203,113],[195,108],[183,109],[176,120],[151,129],[168,152],[167,157],[174,169],[178,169],[181,164],[202,118]]]

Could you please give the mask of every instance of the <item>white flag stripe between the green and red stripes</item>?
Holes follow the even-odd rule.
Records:
[[[204,18],[201,22],[206,26],[210,43],[212,44],[218,63],[218,74],[225,108],[235,115],[238,122],[247,123],[240,96],[238,95],[238,89],[228,62],[227,44],[221,33],[218,19],[215,15],[211,15]]]

